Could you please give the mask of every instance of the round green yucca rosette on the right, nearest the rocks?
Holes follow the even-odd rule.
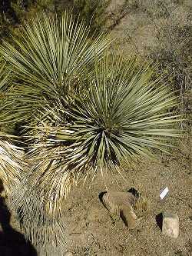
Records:
[[[58,130],[59,140],[72,142],[65,150],[68,163],[111,168],[149,157],[154,148],[165,151],[180,132],[171,112],[176,97],[162,77],[153,79],[149,64],[138,69],[134,59],[119,56],[105,58],[101,66],[96,64],[88,91],[68,111],[73,120],[68,129],[74,132],[66,137]]]

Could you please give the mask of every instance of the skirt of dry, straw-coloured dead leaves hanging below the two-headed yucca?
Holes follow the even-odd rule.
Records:
[[[50,134],[55,132],[49,131]],[[39,143],[37,140],[26,155],[30,168],[12,190],[10,207],[18,213],[25,237],[40,254],[62,255],[67,237],[62,210],[65,208],[66,189],[72,182],[66,167],[58,169],[60,148],[48,148],[45,138],[42,136]]]

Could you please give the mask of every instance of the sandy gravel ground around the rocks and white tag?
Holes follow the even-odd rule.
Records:
[[[157,161],[147,161],[137,168],[127,169],[123,174],[125,179],[117,174],[104,182],[98,175],[90,188],[85,186],[72,191],[65,212],[70,234],[68,251],[74,255],[90,256],[192,255],[190,160],[189,155],[161,156]],[[134,187],[147,194],[149,210],[135,230],[129,231],[123,221],[114,222],[101,204],[98,196],[101,191],[106,191],[106,186],[113,191],[127,191]],[[170,192],[161,201],[159,194],[166,186]],[[166,210],[179,216],[180,235],[177,239],[162,235],[157,225],[157,214]]]

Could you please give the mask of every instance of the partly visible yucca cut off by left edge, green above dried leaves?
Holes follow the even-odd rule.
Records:
[[[5,188],[5,192],[10,194],[11,188],[15,186],[20,178],[21,171],[24,171],[23,148],[16,147],[10,142],[10,138],[15,136],[8,135],[3,131],[3,125],[6,124],[7,111],[5,108],[12,108],[10,102],[7,101],[8,71],[5,68],[5,62],[0,58],[0,179]]]

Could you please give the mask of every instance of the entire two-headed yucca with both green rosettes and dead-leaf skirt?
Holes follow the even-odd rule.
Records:
[[[12,207],[27,238],[62,254],[62,209],[71,186],[98,171],[118,170],[166,150],[179,132],[174,93],[150,64],[138,67],[104,49],[108,39],[65,14],[25,25],[22,41],[0,52],[14,75],[12,118],[25,122],[28,172],[13,189]],[[168,142],[168,143],[167,143]]]

